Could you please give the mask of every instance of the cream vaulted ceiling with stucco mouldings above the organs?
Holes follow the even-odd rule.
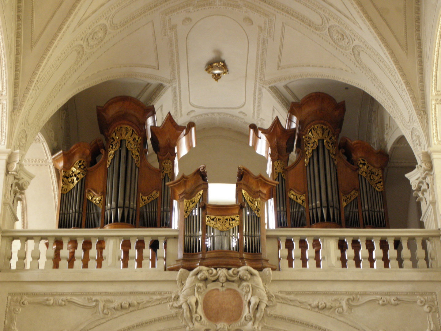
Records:
[[[428,146],[418,1],[10,0],[2,6],[9,32],[16,31],[16,45],[13,33],[6,41],[15,74],[14,148],[26,149],[74,96],[83,109],[77,135],[84,132],[86,140],[93,128],[80,117],[94,114],[112,92],[155,105],[159,123],[171,112],[179,124],[243,132],[250,123],[265,127],[274,116],[284,118],[290,102],[315,90],[346,100],[343,134],[360,136],[360,113],[372,96],[415,152]],[[226,61],[229,74],[215,82],[204,69],[217,60]]]

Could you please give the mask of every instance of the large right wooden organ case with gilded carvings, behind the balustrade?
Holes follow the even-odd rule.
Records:
[[[276,227],[389,227],[382,179],[389,158],[363,141],[337,144],[344,113],[344,102],[316,92],[292,102],[285,127],[277,117],[267,129],[250,125],[250,146],[278,181],[268,203]]]

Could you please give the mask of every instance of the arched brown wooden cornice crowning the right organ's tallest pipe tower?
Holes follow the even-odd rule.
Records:
[[[343,126],[345,102],[337,103],[329,94],[314,92],[306,95],[300,102],[292,102],[289,115],[299,120],[299,131],[302,134],[313,124],[327,122],[336,137]]]

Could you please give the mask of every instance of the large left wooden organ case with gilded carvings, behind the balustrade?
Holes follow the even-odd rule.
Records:
[[[195,146],[194,123],[180,126],[168,113],[156,126],[153,106],[125,96],[97,107],[97,118],[106,145],[77,143],[52,157],[60,171],[58,227],[171,227],[167,183]],[[159,169],[147,161],[147,138]]]

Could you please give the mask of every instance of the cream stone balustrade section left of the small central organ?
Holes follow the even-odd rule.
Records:
[[[142,268],[164,271],[167,241],[177,237],[175,229],[4,230],[0,270]]]

